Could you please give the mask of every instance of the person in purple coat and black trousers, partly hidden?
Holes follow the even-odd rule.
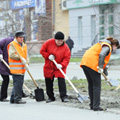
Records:
[[[7,46],[10,42],[14,40],[14,37],[7,37],[2,40],[0,40],[0,74],[3,78],[2,84],[1,84],[1,90],[0,90],[0,101],[1,102],[8,102],[7,100],[7,91],[8,91],[8,85],[10,81],[10,70],[8,67],[3,63],[2,59],[8,64],[8,52],[7,52]],[[22,92],[22,97],[28,97],[27,94]]]

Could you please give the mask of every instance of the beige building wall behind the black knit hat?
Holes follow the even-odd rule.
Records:
[[[57,31],[62,31],[67,39],[69,36],[69,11],[62,9],[64,1],[52,0],[52,28],[53,36]]]

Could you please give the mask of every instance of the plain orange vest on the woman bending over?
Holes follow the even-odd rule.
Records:
[[[109,62],[109,59],[111,56],[111,51],[112,51],[111,45],[107,42],[96,43],[90,49],[88,49],[82,57],[80,67],[82,67],[82,65],[85,65],[85,66],[95,70],[96,72],[98,72],[97,66],[98,66],[98,62],[99,62],[99,54],[102,50],[103,45],[107,45],[110,48],[109,54],[104,59],[104,66],[103,66],[103,69],[104,69],[106,67],[107,63]]]

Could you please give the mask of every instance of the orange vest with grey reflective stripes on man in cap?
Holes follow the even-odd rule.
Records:
[[[17,49],[18,53],[20,54],[20,56],[26,59],[27,57],[27,45],[26,44],[23,48],[20,46],[20,44],[16,43],[15,41],[12,41],[10,44],[13,44],[15,48]],[[14,60],[9,57],[10,44],[8,45],[8,61],[9,61],[9,66],[10,66],[10,72],[12,74],[24,74],[26,70],[25,70],[25,65],[22,63],[22,61]]]

